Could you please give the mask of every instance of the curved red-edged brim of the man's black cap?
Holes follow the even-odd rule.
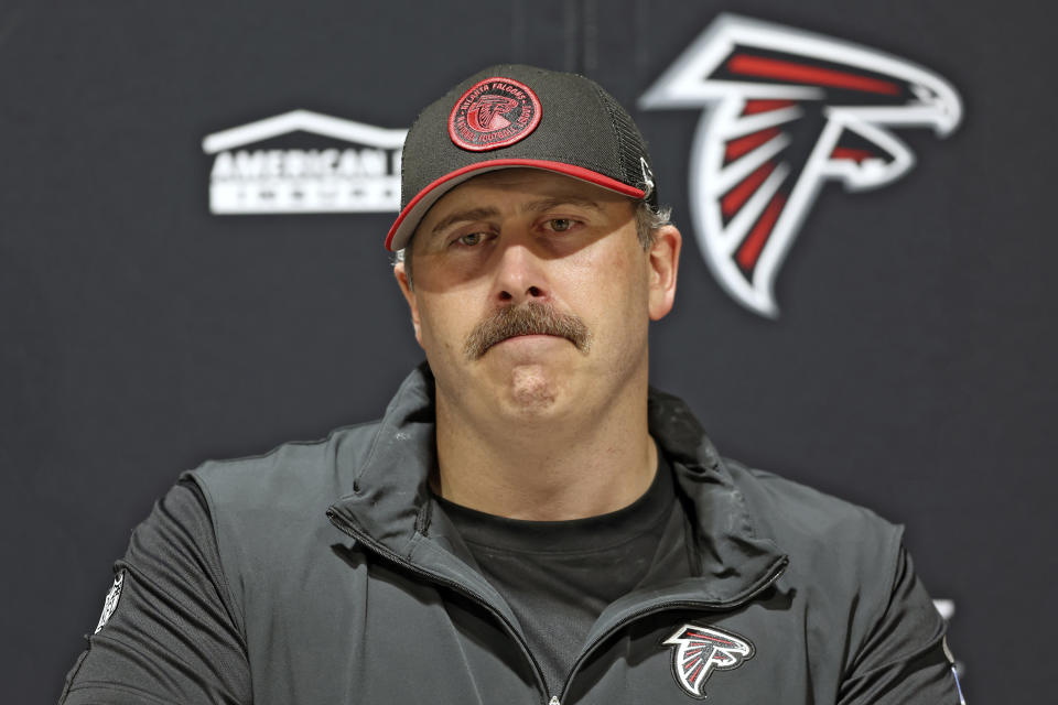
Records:
[[[641,188],[629,186],[628,184],[624,184],[616,178],[611,178],[609,176],[593,172],[589,169],[584,169],[583,166],[573,166],[571,164],[563,164],[562,162],[550,162],[538,159],[497,159],[485,162],[475,162],[474,164],[469,164],[463,169],[457,169],[454,172],[445,174],[415,194],[415,197],[409,200],[408,205],[404,206],[403,210],[400,212],[400,215],[397,216],[392,227],[386,235],[386,249],[390,251],[403,249],[408,245],[408,241],[411,240],[411,236],[415,232],[415,228],[419,227],[419,223],[422,220],[423,216],[427,215],[427,212],[430,210],[430,207],[433,206],[433,204],[435,204],[441,196],[449,193],[463,182],[485,172],[495,172],[501,169],[516,167],[540,169],[543,171],[562,174],[564,176],[571,176],[573,178],[579,178],[580,181],[595,184],[596,186],[602,186],[608,191],[628,196],[629,198],[644,198],[646,196],[646,192],[644,192]]]

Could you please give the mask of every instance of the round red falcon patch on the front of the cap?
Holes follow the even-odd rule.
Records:
[[[486,78],[463,94],[449,116],[449,135],[457,147],[484,152],[522,140],[540,123],[540,100],[512,78]]]

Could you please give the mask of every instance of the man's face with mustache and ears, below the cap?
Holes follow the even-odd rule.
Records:
[[[628,198],[551,172],[490,172],[434,204],[410,247],[414,286],[396,273],[439,404],[543,421],[645,389],[679,234],[645,251]]]

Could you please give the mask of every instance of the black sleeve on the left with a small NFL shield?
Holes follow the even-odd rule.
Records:
[[[251,703],[240,617],[231,608],[209,510],[177,484],[132,533],[88,648],[60,703]]]

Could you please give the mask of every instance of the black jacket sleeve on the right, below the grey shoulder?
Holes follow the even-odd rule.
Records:
[[[903,545],[889,601],[862,640],[838,699],[839,705],[964,705],[943,619]]]

